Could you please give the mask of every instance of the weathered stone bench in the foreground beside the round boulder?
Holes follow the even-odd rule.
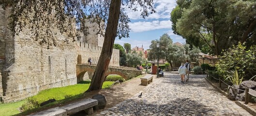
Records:
[[[55,107],[29,116],[70,116],[79,111],[85,110],[85,113],[91,115],[93,106],[98,105],[98,100],[85,99],[79,102],[74,102],[62,107]]]

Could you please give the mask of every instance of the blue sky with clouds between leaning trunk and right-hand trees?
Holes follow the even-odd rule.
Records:
[[[150,14],[143,19],[140,12],[127,10],[127,14],[131,20],[129,22],[130,33],[129,38],[116,38],[115,43],[123,45],[130,43],[131,47],[141,47],[143,44],[144,50],[149,49],[152,40],[159,39],[160,36],[167,33],[173,43],[185,43],[181,36],[173,34],[171,29],[172,22],[170,21],[170,13],[175,8],[176,0],[154,0],[156,13]]]

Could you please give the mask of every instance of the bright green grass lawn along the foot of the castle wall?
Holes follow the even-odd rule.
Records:
[[[104,88],[109,88],[113,82],[105,81],[103,84]],[[78,84],[66,86],[66,87],[57,87],[46,89],[40,91],[37,95],[29,97],[26,100],[13,103],[1,103],[0,104],[0,116],[12,116],[19,114],[19,108],[22,106],[24,111],[27,113],[22,113],[21,115],[27,115],[30,112],[35,112],[40,110],[40,108],[49,107],[51,105],[65,103],[71,100],[79,99],[84,95],[84,92],[89,88],[90,81],[82,81]],[[40,107],[40,103],[45,102],[49,99],[55,99],[56,102],[47,104]]]

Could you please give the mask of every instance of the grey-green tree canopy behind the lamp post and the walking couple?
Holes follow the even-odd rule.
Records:
[[[156,47],[157,42],[160,43],[159,48]],[[198,54],[201,52],[196,46],[190,48],[189,44],[173,44],[172,39],[167,34],[163,34],[159,40],[151,41],[150,48],[151,50],[148,55],[149,60],[156,60],[158,56],[159,59],[166,60],[171,67],[173,67],[173,63],[180,65],[187,59],[197,62],[199,58]],[[157,53],[158,49],[159,51]]]

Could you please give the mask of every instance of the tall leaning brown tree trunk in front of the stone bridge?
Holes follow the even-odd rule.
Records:
[[[101,56],[99,58],[96,70],[93,73],[90,87],[86,92],[99,90],[102,88],[103,82],[105,80],[105,73],[107,71],[113,52],[115,37],[117,35],[120,6],[121,0],[111,0],[105,31],[105,39],[102,47],[103,49],[101,51]]]

